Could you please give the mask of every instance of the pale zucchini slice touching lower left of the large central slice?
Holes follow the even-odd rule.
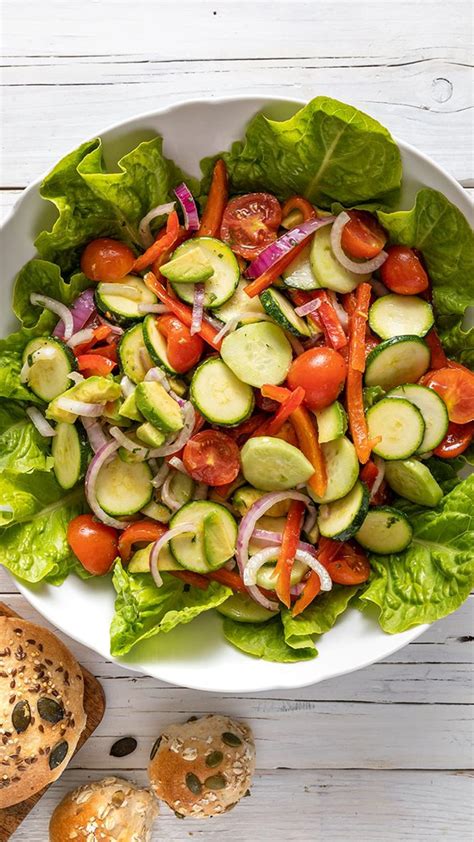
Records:
[[[254,406],[253,389],[242,383],[220,357],[211,357],[198,366],[189,397],[211,424],[224,426],[245,421]]]

